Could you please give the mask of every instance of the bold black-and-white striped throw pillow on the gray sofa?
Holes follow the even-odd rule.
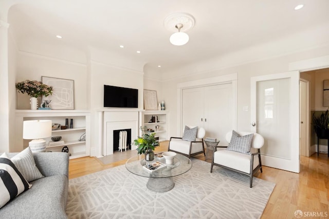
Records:
[[[0,208],[31,186],[10,159],[0,157]]]

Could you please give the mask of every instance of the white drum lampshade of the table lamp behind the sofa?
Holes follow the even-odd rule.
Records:
[[[23,139],[41,139],[51,136],[51,120],[29,120],[23,122]]]

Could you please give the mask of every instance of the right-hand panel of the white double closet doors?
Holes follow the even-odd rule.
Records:
[[[205,87],[206,137],[217,138],[219,145],[228,145],[226,133],[233,128],[232,83]]]

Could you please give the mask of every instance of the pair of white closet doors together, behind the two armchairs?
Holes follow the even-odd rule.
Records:
[[[217,138],[219,145],[227,145],[227,132],[233,129],[232,83],[218,84],[182,91],[182,125],[198,125],[206,130],[206,137]]]

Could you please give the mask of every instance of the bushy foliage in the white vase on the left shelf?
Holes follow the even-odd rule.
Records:
[[[22,94],[28,94],[30,97],[40,97],[45,95],[48,97],[52,95],[52,86],[43,84],[41,81],[25,80],[15,84],[18,92]]]

